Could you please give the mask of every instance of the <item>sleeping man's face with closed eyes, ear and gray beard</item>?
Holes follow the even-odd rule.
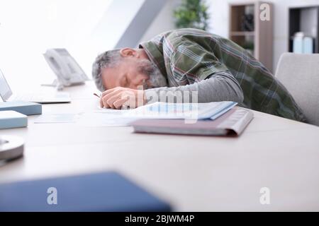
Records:
[[[139,85],[144,85],[144,88],[166,86],[167,81],[157,66],[142,54],[142,52],[133,52],[132,55],[122,55],[119,64],[102,69],[102,81],[106,90],[118,86],[132,89],[138,89]]]

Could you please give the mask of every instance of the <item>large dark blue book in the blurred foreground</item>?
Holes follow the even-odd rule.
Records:
[[[0,211],[169,211],[116,172],[0,184]]]

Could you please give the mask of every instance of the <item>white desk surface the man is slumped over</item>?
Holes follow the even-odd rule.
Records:
[[[93,83],[43,114],[95,109]],[[26,139],[24,157],[0,163],[0,182],[117,170],[178,211],[319,210],[319,127],[254,112],[238,138],[133,133],[130,127],[34,124],[0,130]],[[270,189],[270,205],[259,202]]]

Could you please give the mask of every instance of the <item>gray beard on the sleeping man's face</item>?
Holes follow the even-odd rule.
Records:
[[[146,81],[145,89],[159,88],[167,86],[167,80],[162,75],[157,66],[150,60],[142,59],[139,62],[138,68],[141,73],[146,74],[150,78]]]

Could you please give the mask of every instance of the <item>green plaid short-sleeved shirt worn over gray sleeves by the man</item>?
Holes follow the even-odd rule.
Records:
[[[203,30],[179,29],[140,44],[170,87],[228,73],[240,84],[243,107],[306,121],[293,97],[259,61],[228,39]]]

